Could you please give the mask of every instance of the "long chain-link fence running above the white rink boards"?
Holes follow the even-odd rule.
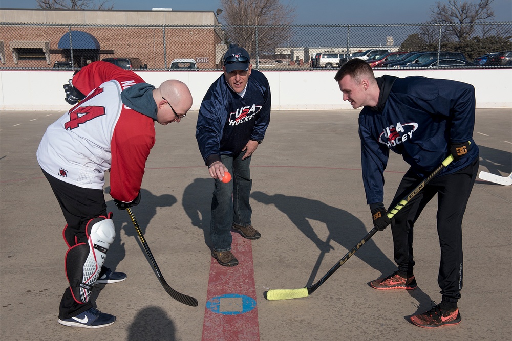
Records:
[[[511,39],[512,22],[283,26],[1,22],[0,69],[77,70],[106,59],[135,70],[219,70],[229,44],[246,48],[258,70],[331,69],[368,50],[380,50],[380,55],[432,52],[429,60],[438,65],[444,52],[456,52],[482,67],[512,67]],[[498,60],[477,59],[498,52],[510,53]],[[322,61],[324,56],[331,61]]]

